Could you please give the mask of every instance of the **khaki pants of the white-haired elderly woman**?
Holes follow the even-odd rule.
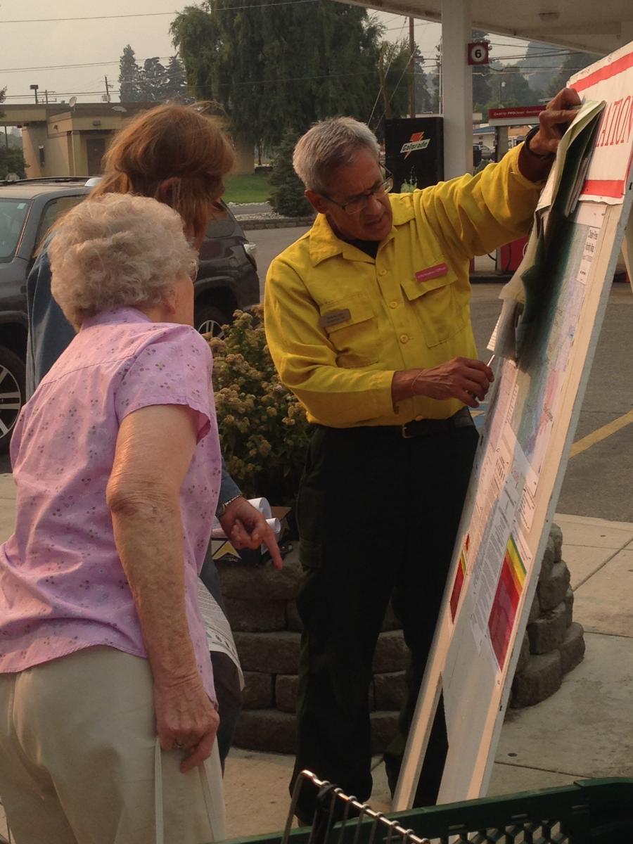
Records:
[[[146,659],[91,647],[0,674],[0,797],[16,844],[155,844],[161,780],[165,844],[223,839],[217,743],[206,778],[181,760],[156,753]]]

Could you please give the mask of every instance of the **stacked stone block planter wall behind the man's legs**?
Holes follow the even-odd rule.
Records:
[[[511,706],[544,700],[559,688],[563,674],[582,660],[582,627],[571,620],[573,593],[561,546],[562,533],[555,526],[512,685]],[[283,571],[235,563],[220,563],[218,570],[246,679],[235,744],[294,753],[301,630],[295,605],[301,576],[296,549],[286,556]],[[399,627],[398,619],[387,613],[374,657],[370,711],[375,754],[396,732],[404,696],[407,655]]]

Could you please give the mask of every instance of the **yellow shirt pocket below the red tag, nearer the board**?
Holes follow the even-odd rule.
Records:
[[[459,295],[456,282],[451,269],[435,279],[401,281],[429,348],[446,343],[468,322],[468,298]]]

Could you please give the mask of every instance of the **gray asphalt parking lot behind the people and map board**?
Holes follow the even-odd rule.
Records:
[[[306,229],[250,230],[257,243],[257,265],[263,288],[268,264]],[[473,287],[473,327],[482,358],[499,313],[500,285]],[[614,284],[603,330],[593,360],[575,440],[599,430],[633,408],[633,295],[626,284]],[[8,472],[6,456],[0,472]],[[633,424],[571,457],[557,509],[577,516],[633,522]]]

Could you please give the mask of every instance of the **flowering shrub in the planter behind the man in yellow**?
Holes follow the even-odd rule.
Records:
[[[310,440],[306,413],[279,381],[262,308],[235,311],[223,338],[209,338],[222,454],[247,498],[292,506]]]

